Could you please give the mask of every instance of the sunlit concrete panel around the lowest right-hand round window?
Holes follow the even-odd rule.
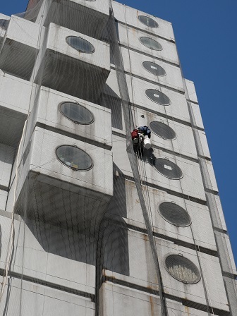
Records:
[[[183,284],[183,282],[171,277],[164,265],[164,260],[167,255],[179,254],[186,257],[200,269],[195,250],[190,250],[158,238],[156,238],[155,243],[157,252],[159,253],[158,259],[164,285],[164,293],[206,305],[207,302],[202,280],[196,284]],[[129,277],[109,271],[105,271],[105,274],[108,277],[114,277],[114,279],[121,279],[122,281],[127,281],[132,284],[138,284],[146,288],[149,286],[149,288],[158,290],[157,275],[154,269],[148,236],[135,231],[128,231],[128,251],[130,254]],[[209,301],[212,307],[229,311],[219,259],[206,255],[205,253],[199,253],[199,256],[202,272],[205,276],[204,281],[208,286]]]

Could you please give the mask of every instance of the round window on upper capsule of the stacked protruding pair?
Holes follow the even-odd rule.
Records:
[[[80,104],[73,102],[63,102],[59,105],[59,111],[67,119],[78,124],[91,124],[94,122],[93,114]]]

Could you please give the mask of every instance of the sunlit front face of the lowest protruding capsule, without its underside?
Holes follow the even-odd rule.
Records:
[[[55,154],[56,148],[60,145],[74,145],[87,152],[92,158],[92,169],[73,171],[73,169],[63,165]],[[35,128],[30,154],[24,169],[26,173],[29,171],[39,172],[46,177],[50,176],[75,186],[82,186],[107,195],[113,194],[112,155],[109,150],[80,140],[73,140],[42,128]]]

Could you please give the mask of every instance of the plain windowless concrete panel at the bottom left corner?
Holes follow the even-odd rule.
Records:
[[[16,316],[18,312],[23,316],[93,316],[95,303],[73,293],[8,278],[0,305],[1,315],[6,310],[8,316]]]

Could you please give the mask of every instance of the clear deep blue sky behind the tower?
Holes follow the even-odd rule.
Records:
[[[226,224],[237,262],[236,0],[121,0],[169,20],[186,78],[195,82]],[[2,1],[7,15],[25,11],[28,0]]]

